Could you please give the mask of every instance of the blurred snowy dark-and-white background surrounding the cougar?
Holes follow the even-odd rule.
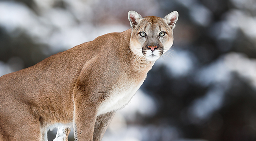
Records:
[[[0,76],[129,29],[130,10],[178,11],[174,44],[102,141],[256,141],[255,0],[1,0]]]

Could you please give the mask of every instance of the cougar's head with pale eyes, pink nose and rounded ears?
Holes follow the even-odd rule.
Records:
[[[178,20],[177,11],[173,11],[165,18],[143,18],[137,12],[130,11],[128,19],[132,27],[130,49],[134,54],[148,61],[156,61],[173,45],[173,29]]]

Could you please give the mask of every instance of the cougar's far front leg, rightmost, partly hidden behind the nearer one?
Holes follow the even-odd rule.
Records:
[[[115,111],[111,111],[97,117],[93,132],[93,141],[101,141],[114,115]]]

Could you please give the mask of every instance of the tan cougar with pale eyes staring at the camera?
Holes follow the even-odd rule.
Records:
[[[124,107],[147,72],[173,45],[178,20],[128,13],[131,28],[0,77],[0,141],[47,141],[59,127],[67,141],[101,141],[115,111]],[[57,139],[56,139],[57,140]]]

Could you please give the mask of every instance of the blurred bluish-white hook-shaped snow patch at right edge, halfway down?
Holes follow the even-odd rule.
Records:
[[[250,82],[256,90],[256,59],[250,59],[245,54],[230,52],[217,61],[203,67],[195,76],[195,82],[210,87],[206,95],[195,99],[189,107],[192,123],[200,123],[221,108],[225,91],[230,88],[232,72]]]

